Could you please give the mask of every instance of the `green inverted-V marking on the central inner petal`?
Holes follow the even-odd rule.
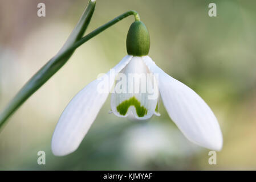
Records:
[[[148,113],[148,110],[140,105],[140,102],[134,96],[129,98],[129,100],[121,102],[117,107],[116,110],[121,114],[125,115],[130,106],[135,106],[136,113],[139,117],[144,117],[145,114]]]

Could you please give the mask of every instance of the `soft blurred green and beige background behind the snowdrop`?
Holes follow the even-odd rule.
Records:
[[[51,137],[64,107],[126,54],[130,16],[79,47],[9,119],[0,133],[0,169],[256,169],[256,1],[96,0],[87,32],[136,10],[151,35],[149,56],[194,89],[224,135],[217,165],[190,143],[160,105],[161,117],[132,122],[108,114],[109,98],[74,153],[56,157]],[[46,5],[46,17],[37,5]],[[217,17],[208,5],[217,5]],[[0,110],[62,47],[87,0],[0,0]],[[37,152],[46,152],[38,165]]]

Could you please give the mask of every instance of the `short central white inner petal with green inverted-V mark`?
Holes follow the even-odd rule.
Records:
[[[159,88],[141,57],[132,57],[117,80],[115,93],[111,96],[111,109],[115,115],[143,120],[156,113]]]

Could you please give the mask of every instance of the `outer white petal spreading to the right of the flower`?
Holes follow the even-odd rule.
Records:
[[[196,92],[157,67],[149,56],[143,60],[153,73],[159,73],[162,102],[182,133],[200,146],[220,151],[222,133],[210,107]]]

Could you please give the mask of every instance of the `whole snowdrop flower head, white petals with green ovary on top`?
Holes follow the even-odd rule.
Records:
[[[149,47],[148,30],[144,23],[136,20],[127,35],[128,55],[112,69],[114,77],[119,77],[121,74],[128,77],[128,81],[121,82],[122,86],[120,86],[115,79],[101,77],[102,79],[92,81],[76,94],[64,109],[55,128],[51,144],[55,155],[67,155],[78,148],[109,93],[111,93],[113,114],[139,121],[160,115],[158,105],[161,98],[169,117],[186,138],[200,146],[221,150],[222,133],[210,107],[192,89],[157,67],[148,56]],[[137,81],[141,88],[135,92],[136,85],[129,85],[133,79],[129,74],[133,76],[153,74],[153,76],[147,77],[147,84],[144,84],[143,79]],[[105,77],[110,76],[111,71],[105,75]],[[125,80],[124,77],[120,80]],[[99,92],[101,84],[108,85],[105,92]],[[112,92],[113,85],[115,85],[114,91],[120,86],[121,92]],[[133,88],[129,90],[131,86]],[[155,88],[153,93],[149,93],[148,90],[143,92],[143,88],[151,86]],[[129,92],[126,92],[127,90]]]

